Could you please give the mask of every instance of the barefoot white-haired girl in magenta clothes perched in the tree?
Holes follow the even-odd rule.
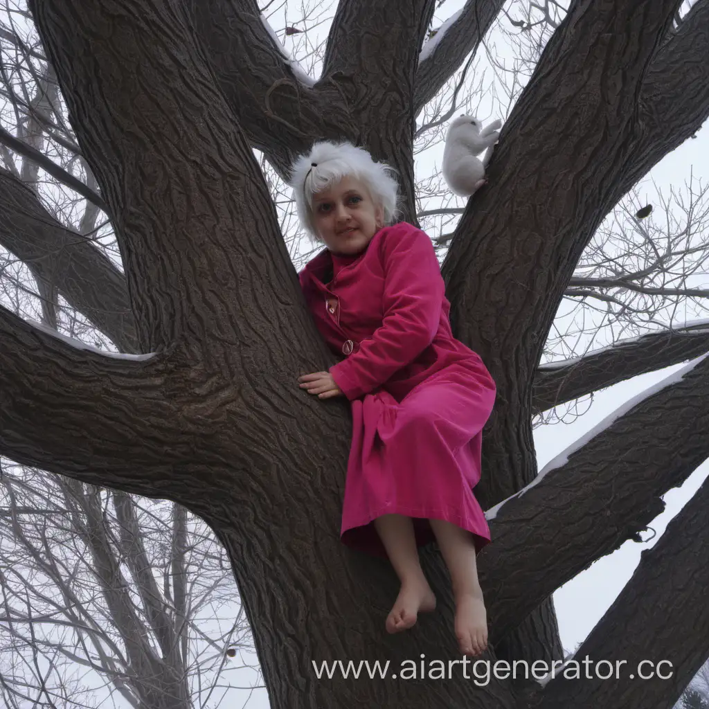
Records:
[[[411,627],[436,599],[418,559],[435,537],[450,571],[461,652],[487,644],[476,553],[490,540],[472,489],[495,383],[456,340],[430,239],[390,225],[393,169],[350,143],[316,143],[294,162],[304,228],[325,245],[298,274],[318,330],[344,359],[298,378],[319,398],[352,402],[342,542],[389,557],[401,590],[386,630]]]

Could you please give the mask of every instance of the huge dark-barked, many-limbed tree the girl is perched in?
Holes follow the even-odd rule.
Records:
[[[479,487],[486,506],[504,501],[480,560],[497,657],[559,659],[551,593],[637,535],[661,495],[709,454],[705,327],[538,366],[601,220],[709,113],[709,2],[677,21],[681,5],[571,2],[503,128],[491,186],[471,199],[442,267],[455,332],[498,383]],[[8,247],[51,263],[62,295],[133,357],[72,347],[0,310],[0,452],[83,484],[167,498],[206,520],[233,564],[274,708],[671,705],[708,652],[700,559],[709,484],[579,648],[579,657],[629,665],[671,657],[669,680],[557,677],[542,688],[492,677],[477,686],[454,672],[445,683],[318,681],[311,666],[452,659],[452,608],[428,549],[442,612],[406,637],[386,636],[391,569],[337,540],[347,407],[308,401],[295,386],[299,373],[334,360],[304,308],[252,148],[285,177],[315,138],[359,141],[398,169],[403,216],[415,220],[415,117],[502,3],[469,0],[420,52],[433,0],[341,2],[317,82],[274,45],[253,0],[30,8],[124,272],[89,240],[48,225],[11,174],[3,209],[23,238]],[[64,258],[48,261],[57,240]],[[535,411],[691,357],[681,378],[630,402],[537,476]],[[567,377],[575,384],[564,393]],[[151,702],[169,706],[164,696]]]

